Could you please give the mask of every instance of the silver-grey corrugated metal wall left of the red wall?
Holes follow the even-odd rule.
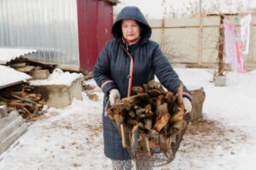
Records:
[[[36,59],[79,65],[77,20],[76,0],[1,0],[0,47],[34,48]]]

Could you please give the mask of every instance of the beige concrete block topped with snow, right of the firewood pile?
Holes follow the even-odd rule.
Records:
[[[35,89],[42,95],[47,105],[55,108],[63,108],[71,105],[73,98],[83,99],[82,81],[83,78],[78,78],[72,82],[71,86],[57,84],[40,85],[35,86]]]

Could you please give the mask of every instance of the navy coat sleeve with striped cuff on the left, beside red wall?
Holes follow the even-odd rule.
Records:
[[[92,73],[96,84],[98,87],[102,88],[102,92],[106,95],[109,94],[111,89],[117,88],[115,82],[113,82],[111,78],[110,56],[107,49],[108,43],[102,48]]]

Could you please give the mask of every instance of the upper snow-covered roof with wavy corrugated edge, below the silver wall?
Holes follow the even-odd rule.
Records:
[[[12,59],[20,58],[27,54],[33,54],[36,52],[36,49],[0,48],[0,65],[5,65]]]

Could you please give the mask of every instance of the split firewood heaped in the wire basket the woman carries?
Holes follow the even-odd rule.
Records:
[[[172,94],[160,82],[151,81],[132,91],[136,95],[122,99],[107,111],[119,130],[123,147],[134,159],[139,155],[152,159],[162,154],[165,160],[156,161],[172,161],[189,122],[184,116],[183,86]]]

